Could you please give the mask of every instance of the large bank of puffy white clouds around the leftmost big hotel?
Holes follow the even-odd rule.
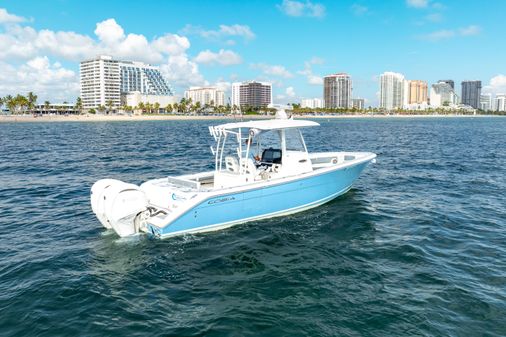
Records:
[[[187,55],[190,41],[181,35],[164,34],[148,39],[141,34],[127,34],[112,18],[98,22],[92,36],[72,31],[36,30],[19,24],[21,19],[2,10],[0,20],[10,22],[0,31],[0,95],[34,91],[51,101],[74,100],[79,89],[78,74],[49,60],[79,62],[100,54],[161,64],[163,74],[173,86],[207,83],[197,63]],[[229,51],[218,53],[218,56],[220,64],[237,62],[238,57]]]

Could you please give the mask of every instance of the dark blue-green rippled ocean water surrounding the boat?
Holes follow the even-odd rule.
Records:
[[[0,124],[0,335],[505,336],[506,118],[320,122],[378,154],[347,194],[167,240],[89,189],[212,168],[209,122]]]

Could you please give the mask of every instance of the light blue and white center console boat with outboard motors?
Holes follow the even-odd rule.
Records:
[[[273,119],[210,126],[213,171],[140,186],[101,179],[91,188],[92,210],[120,237],[167,238],[320,206],[346,193],[376,154],[310,153],[302,130],[318,126],[284,110]]]

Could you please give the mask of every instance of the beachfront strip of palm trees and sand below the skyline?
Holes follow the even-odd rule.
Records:
[[[506,116],[504,111],[482,111],[450,109],[449,107],[429,108],[427,110],[396,109],[385,111],[381,108],[302,108],[300,104],[288,104],[291,109],[289,115],[296,118],[389,118],[389,117],[476,117],[476,116]],[[7,108],[8,111],[3,110]],[[0,122],[102,122],[102,121],[142,121],[142,120],[208,120],[208,119],[251,119],[272,118],[276,109],[239,107],[230,104],[214,106],[201,105],[191,99],[182,98],[179,103],[161,107],[158,103],[139,103],[138,106],[114,107],[112,102],[95,109],[83,109],[81,98],[75,104],[63,102],[51,104],[45,101],[37,105],[37,95],[29,92],[27,96],[17,94],[0,97]]]

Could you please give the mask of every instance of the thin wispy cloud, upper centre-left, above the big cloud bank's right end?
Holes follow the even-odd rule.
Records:
[[[235,44],[232,38],[242,38],[244,41],[253,40],[255,33],[246,25],[220,25],[216,30],[205,30],[200,26],[186,25],[181,33],[199,35],[207,40],[223,41],[227,45]]]

